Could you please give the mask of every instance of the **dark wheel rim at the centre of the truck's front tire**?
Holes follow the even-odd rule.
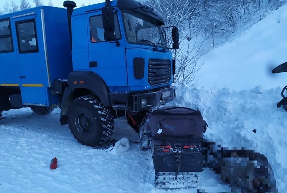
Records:
[[[75,123],[78,131],[83,135],[88,135],[93,131],[91,118],[85,112],[77,113]]]

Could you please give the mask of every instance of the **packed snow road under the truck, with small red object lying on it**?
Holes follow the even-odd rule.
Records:
[[[79,144],[68,126],[59,125],[59,109],[39,116],[30,108],[3,113],[0,121],[1,192],[166,192],[154,187],[154,170],[149,151],[138,144],[98,150]],[[120,127],[120,129],[119,129]],[[125,123],[118,122],[112,138],[138,140]],[[128,146],[128,144],[127,144]],[[57,157],[58,168],[50,169]],[[219,177],[205,169],[199,174],[198,189],[229,192]],[[171,192],[197,192],[179,189]]]

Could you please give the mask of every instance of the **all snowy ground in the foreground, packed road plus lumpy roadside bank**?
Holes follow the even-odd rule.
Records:
[[[245,147],[263,153],[274,169],[279,192],[286,192],[287,114],[276,108],[280,88],[257,88],[252,92],[177,86],[176,90],[177,98],[169,105],[199,108],[209,124],[205,137],[225,147]],[[59,109],[39,116],[32,114],[30,108],[23,108],[4,112],[3,117],[6,118],[0,121],[1,192],[197,191],[156,189],[150,153],[132,143],[138,136],[126,123],[116,123],[112,138],[126,137],[130,146],[123,139],[123,146],[108,151],[77,143],[68,126],[59,125]],[[50,170],[54,157],[58,159],[58,168]],[[198,189],[230,192],[209,169],[198,175]]]

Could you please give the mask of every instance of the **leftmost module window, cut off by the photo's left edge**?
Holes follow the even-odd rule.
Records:
[[[0,53],[13,52],[10,19],[0,19]]]

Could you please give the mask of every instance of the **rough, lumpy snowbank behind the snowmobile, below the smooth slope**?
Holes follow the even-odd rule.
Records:
[[[176,90],[175,101],[168,105],[199,108],[209,124],[206,138],[224,147],[263,153],[274,169],[279,192],[287,192],[287,113],[276,107],[281,88],[215,91],[183,85]]]

